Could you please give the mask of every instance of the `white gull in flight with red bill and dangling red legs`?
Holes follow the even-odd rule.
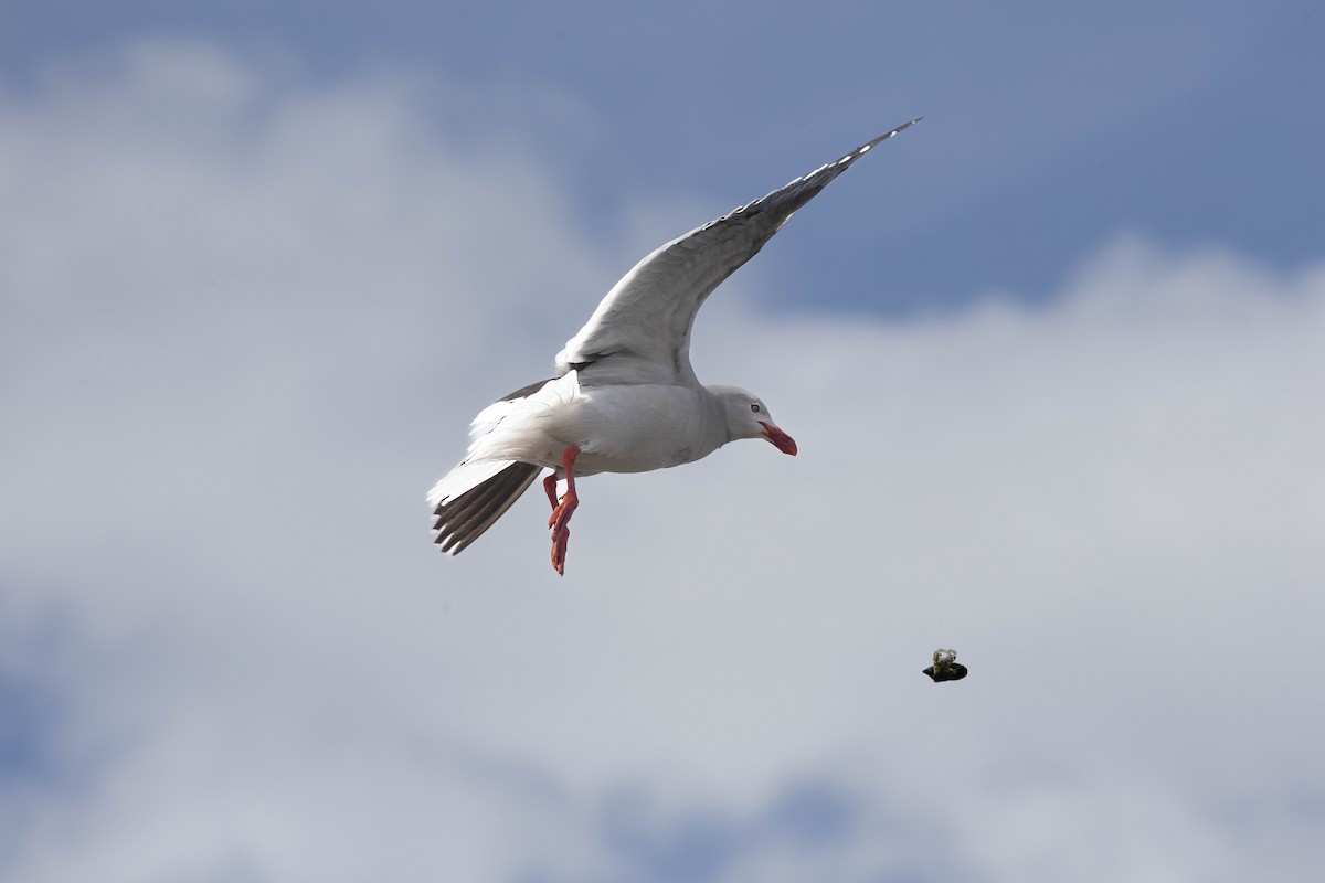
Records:
[[[704,301],[791,216],[913,119],[767,196],[673,240],[617,282],[555,360],[556,376],[522,387],[474,418],[460,463],[428,494],[443,552],[460,553],[539,473],[553,506],[553,567],[566,573],[575,479],[690,463],[738,438],[784,454],[796,442],[739,387],[704,385],[690,367],[690,328]],[[566,492],[558,496],[558,482]]]

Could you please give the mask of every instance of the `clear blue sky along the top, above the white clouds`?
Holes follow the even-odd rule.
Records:
[[[1137,232],[1219,245],[1277,266],[1325,238],[1314,113],[1325,45],[1309,3],[19,4],[0,36],[11,87],[53,58],[95,68],[143,33],[288,57],[298,77],[405,69],[456,83],[530,85],[586,111],[567,143],[529,114],[509,136],[546,151],[584,222],[677,188],[729,208],[916,115],[898,169],[853,181],[839,217],[780,242],[783,303],[912,312],[987,291],[1044,298],[1096,244]],[[481,109],[424,106],[464,139]],[[917,143],[918,142],[918,143]],[[845,188],[844,188],[845,189]],[[719,209],[721,210],[721,209]],[[860,222],[865,217],[871,222]],[[878,236],[884,241],[878,242]],[[893,281],[868,295],[841,266],[871,250]],[[954,259],[959,254],[961,259]],[[798,267],[812,267],[799,274]],[[818,285],[816,285],[818,283]]]

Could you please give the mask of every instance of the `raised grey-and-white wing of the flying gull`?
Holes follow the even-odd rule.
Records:
[[[872,147],[918,123],[861,144],[763,199],[673,240],[635,265],[556,356],[580,384],[696,384],[690,328],[705,298]]]

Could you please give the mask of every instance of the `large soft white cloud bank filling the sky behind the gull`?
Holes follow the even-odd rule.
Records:
[[[1325,266],[1133,237],[909,324],[742,274],[696,360],[799,458],[586,482],[564,580],[535,495],[441,559],[469,417],[635,256],[408,78],[282,71],[146,45],[0,105],[0,675],[58,707],[9,875],[1310,867]]]

